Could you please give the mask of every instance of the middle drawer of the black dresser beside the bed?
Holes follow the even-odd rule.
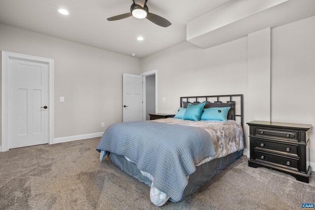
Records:
[[[293,144],[284,144],[261,139],[255,139],[255,149],[270,150],[280,152],[287,155],[299,156],[299,146]]]

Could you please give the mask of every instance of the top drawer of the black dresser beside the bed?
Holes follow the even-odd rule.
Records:
[[[284,138],[289,141],[298,141],[298,131],[286,131],[286,130],[277,130],[277,129],[268,129],[255,127],[255,136],[265,136],[276,137],[276,138]]]

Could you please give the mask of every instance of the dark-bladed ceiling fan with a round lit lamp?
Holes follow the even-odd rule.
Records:
[[[171,22],[169,22],[165,18],[162,18],[161,16],[158,16],[156,14],[149,12],[149,8],[147,6],[148,0],[143,0],[142,2],[137,1],[137,3],[135,3],[134,0],[132,0],[132,1],[133,1],[133,3],[130,7],[130,12],[107,18],[107,20],[108,21],[117,21],[117,20],[121,20],[121,19],[130,17],[130,16],[133,16],[133,17],[139,18],[139,19],[147,18],[152,23],[155,23],[158,26],[161,26],[164,28],[172,25]]]

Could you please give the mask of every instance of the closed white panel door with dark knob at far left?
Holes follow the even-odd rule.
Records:
[[[9,149],[47,144],[48,64],[9,60]]]

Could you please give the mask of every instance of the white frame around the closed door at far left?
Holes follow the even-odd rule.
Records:
[[[48,138],[49,144],[54,139],[54,60],[37,56],[1,51],[1,151],[9,150],[9,60],[26,60],[48,64]]]

